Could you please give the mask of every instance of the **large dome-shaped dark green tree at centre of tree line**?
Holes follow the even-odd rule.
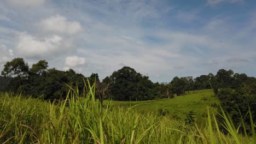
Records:
[[[114,71],[103,82],[110,83],[110,94],[113,100],[148,100],[152,98],[153,82],[149,80],[148,76],[143,76],[130,67]]]

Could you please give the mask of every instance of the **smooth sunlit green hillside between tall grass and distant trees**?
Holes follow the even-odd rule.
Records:
[[[107,103],[107,102],[106,102]],[[148,101],[112,101],[114,107],[129,108],[137,111],[150,111],[155,114],[159,110],[166,112],[171,118],[187,117],[189,111],[195,112],[196,122],[203,123],[207,120],[207,106],[211,112],[216,113],[219,101],[211,89],[190,91],[185,95],[175,97],[173,99],[160,99]]]

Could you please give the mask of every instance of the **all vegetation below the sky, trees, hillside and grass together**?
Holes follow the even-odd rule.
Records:
[[[1,74],[3,143],[256,141],[256,79],[232,70],[154,83],[123,67],[100,81],[14,58]]]

